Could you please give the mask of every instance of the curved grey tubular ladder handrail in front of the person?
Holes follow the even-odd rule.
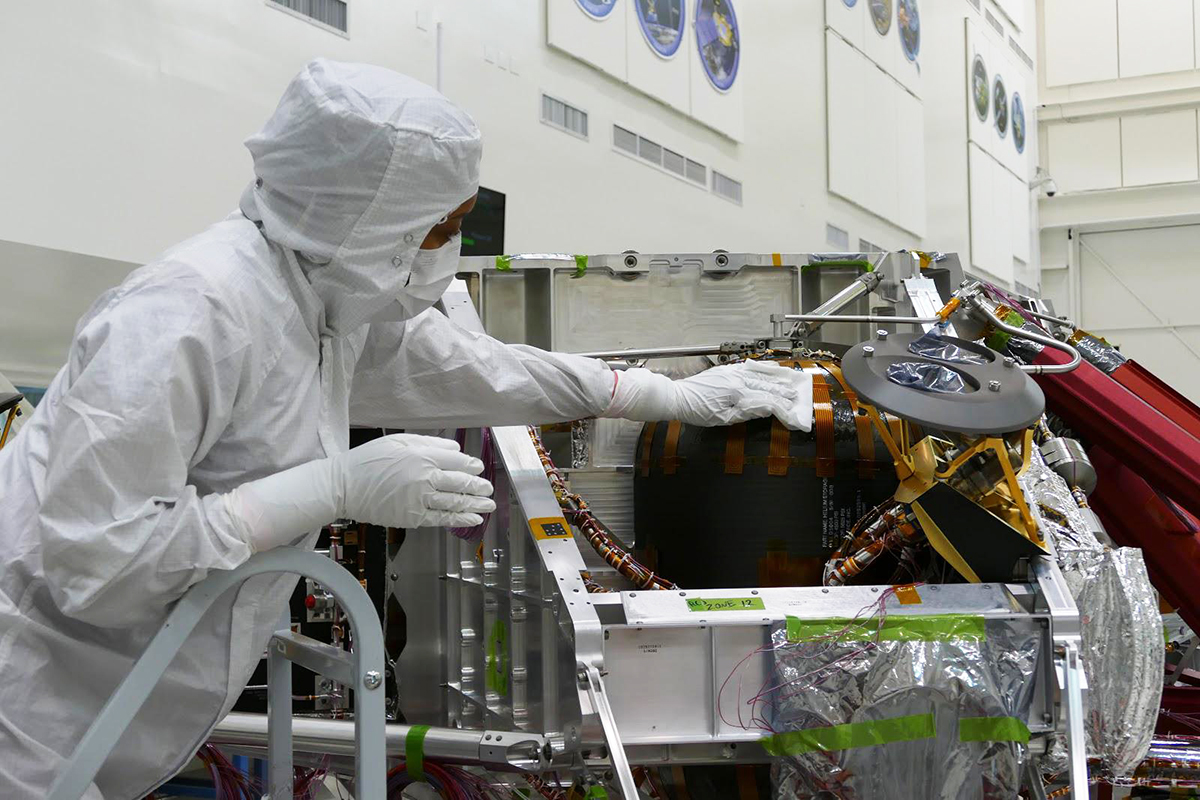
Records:
[[[118,739],[130,727],[175,654],[212,603],[248,578],[272,572],[312,578],[326,588],[346,612],[355,642],[352,654],[355,670],[355,682],[352,688],[355,690],[356,700],[354,729],[358,748],[354,796],[360,800],[383,800],[386,792],[384,692],[382,681],[372,686],[373,681],[366,680],[368,673],[376,672],[382,675],[384,668],[383,631],[379,627],[378,615],[366,590],[340,564],[294,547],[280,547],[258,553],[236,570],[212,572],[179,599],[167,621],[155,633],[125,680],[88,728],[88,733],[79,740],[66,766],[54,781],[49,800],[78,800],[88,790]],[[287,687],[289,706],[290,696],[289,685]],[[280,712],[278,718],[282,716]],[[290,708],[287,723],[288,726],[292,723]],[[282,742],[282,739],[280,741]]]

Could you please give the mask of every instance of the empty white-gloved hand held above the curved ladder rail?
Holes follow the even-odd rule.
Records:
[[[397,433],[242,483],[226,509],[256,553],[335,519],[385,528],[470,528],[496,510],[484,463],[450,439]]]

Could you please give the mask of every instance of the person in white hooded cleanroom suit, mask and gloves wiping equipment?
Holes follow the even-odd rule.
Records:
[[[480,134],[448,100],[318,60],[247,140],[240,211],[133,272],[0,451],[0,798],[42,798],[172,603],[252,553],[346,517],[470,525],[493,509],[454,443],[391,428],[626,416],[811,425],[804,374],[718,367],[619,380],[431,309],[479,187]],[[380,321],[388,320],[388,321]],[[404,321],[407,320],[407,321]],[[89,796],[140,798],[232,706],[295,577],[220,600]]]

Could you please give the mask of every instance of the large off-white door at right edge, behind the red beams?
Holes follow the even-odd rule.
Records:
[[[1079,324],[1200,403],[1200,225],[1085,233]]]

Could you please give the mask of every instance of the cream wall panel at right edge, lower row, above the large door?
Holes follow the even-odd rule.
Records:
[[[1122,116],[1121,164],[1124,186],[1200,179],[1195,109]]]

